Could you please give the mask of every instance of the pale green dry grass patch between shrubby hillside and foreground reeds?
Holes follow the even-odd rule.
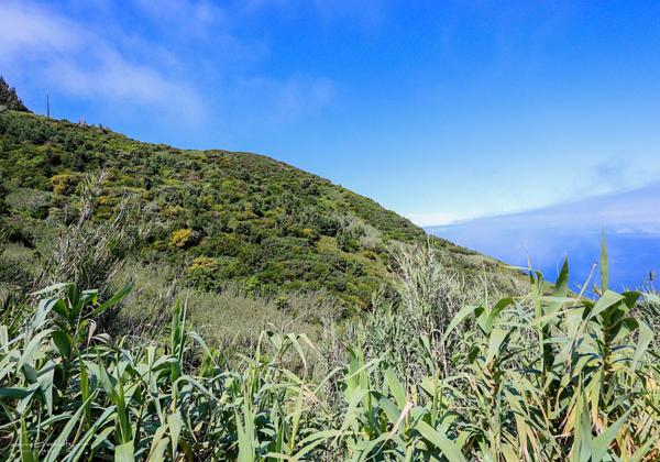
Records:
[[[264,330],[318,339],[323,327],[334,323],[341,312],[339,302],[323,290],[264,298],[232,282],[219,282],[222,288],[213,292],[188,288],[177,280],[177,270],[164,263],[131,261],[111,286],[121,287],[131,280],[138,289],[124,300],[110,328],[116,334],[130,336],[132,342],[162,337],[169,322],[166,307],[179,295],[189,307],[189,328],[216,348],[242,352],[252,350]]]

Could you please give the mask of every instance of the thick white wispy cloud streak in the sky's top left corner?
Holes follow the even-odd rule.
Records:
[[[78,98],[186,114],[205,108],[191,86],[158,67],[131,61],[113,42],[45,7],[0,3],[0,65],[29,68],[33,79]]]

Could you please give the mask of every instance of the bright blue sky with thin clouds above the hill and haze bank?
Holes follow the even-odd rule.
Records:
[[[419,224],[660,174],[660,2],[0,0],[28,106],[271,155]]]

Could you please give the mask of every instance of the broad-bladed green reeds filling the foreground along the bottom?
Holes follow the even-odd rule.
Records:
[[[606,268],[602,280],[596,300],[573,295],[564,265],[552,287],[532,275],[527,296],[462,308],[443,332],[409,338],[425,365],[415,377],[360,343],[319,377],[309,340],[276,332],[228,361],[187,331],[185,304],[168,342],[128,349],[94,319],[129,287],[99,302],[53,286],[34,310],[3,306],[1,458],[657,460],[642,295],[608,290]]]

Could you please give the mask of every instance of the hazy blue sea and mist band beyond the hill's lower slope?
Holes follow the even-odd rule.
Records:
[[[527,267],[531,261],[532,267],[542,271],[550,280],[557,278],[568,256],[574,288],[586,280],[594,263],[600,261],[605,231],[613,287],[641,288],[660,270],[660,183],[426,230],[510,265]]]

